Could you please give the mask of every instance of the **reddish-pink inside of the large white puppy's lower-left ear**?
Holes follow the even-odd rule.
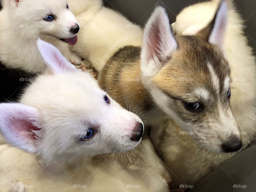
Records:
[[[17,139],[18,137],[23,137],[25,141],[37,140],[38,135],[36,135],[34,131],[41,130],[23,119],[12,119],[10,122],[10,127],[14,137]]]

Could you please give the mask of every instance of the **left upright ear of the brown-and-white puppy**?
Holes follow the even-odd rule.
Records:
[[[161,69],[177,49],[177,43],[171,32],[166,10],[158,6],[147,22],[141,51],[141,69],[145,75],[152,75]]]

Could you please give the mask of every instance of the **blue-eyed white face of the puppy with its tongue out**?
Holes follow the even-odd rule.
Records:
[[[8,0],[12,24],[22,36],[46,34],[74,45],[79,23],[66,0]],[[33,36],[31,36],[33,35]]]

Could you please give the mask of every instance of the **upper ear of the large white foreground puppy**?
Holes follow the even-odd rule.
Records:
[[[76,67],[67,61],[61,52],[50,43],[39,38],[37,40],[37,47],[51,73],[58,74],[77,70]]]

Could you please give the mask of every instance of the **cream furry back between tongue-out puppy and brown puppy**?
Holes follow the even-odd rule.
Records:
[[[142,29],[115,10],[102,7],[86,10],[77,17],[81,31],[78,42],[69,46],[79,57],[87,59],[97,71],[121,47],[142,44]]]

